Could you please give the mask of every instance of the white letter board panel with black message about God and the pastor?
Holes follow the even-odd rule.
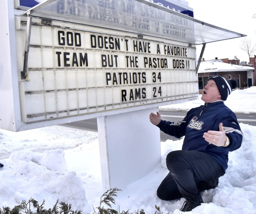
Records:
[[[198,93],[195,48],[127,32],[33,24],[22,122],[162,103]]]

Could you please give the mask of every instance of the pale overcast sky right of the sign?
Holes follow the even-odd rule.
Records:
[[[256,42],[256,0],[186,0],[188,6],[194,9],[194,18],[217,27],[247,35],[252,43]],[[206,44],[203,58],[211,60],[233,59],[237,56],[240,62],[248,62],[248,55],[240,48],[241,38]],[[197,59],[200,56],[202,45],[197,45]],[[256,55],[256,52],[254,53]]]

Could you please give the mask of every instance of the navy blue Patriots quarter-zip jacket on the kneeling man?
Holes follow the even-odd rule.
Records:
[[[220,123],[223,123],[224,131],[230,140],[227,147],[217,147],[203,138],[204,132],[219,131]],[[157,126],[162,132],[176,138],[185,135],[182,150],[205,152],[211,155],[224,171],[228,167],[228,152],[240,148],[243,141],[243,133],[236,114],[223,101],[205,103],[189,110],[182,121],[161,120]]]

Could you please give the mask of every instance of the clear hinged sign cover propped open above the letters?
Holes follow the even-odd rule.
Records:
[[[46,0],[23,14],[199,45],[246,36],[148,0]]]

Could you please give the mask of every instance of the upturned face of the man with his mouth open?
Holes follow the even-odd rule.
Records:
[[[219,90],[214,80],[210,79],[207,85],[204,86],[201,100],[205,103],[221,100],[221,94],[219,93]]]

